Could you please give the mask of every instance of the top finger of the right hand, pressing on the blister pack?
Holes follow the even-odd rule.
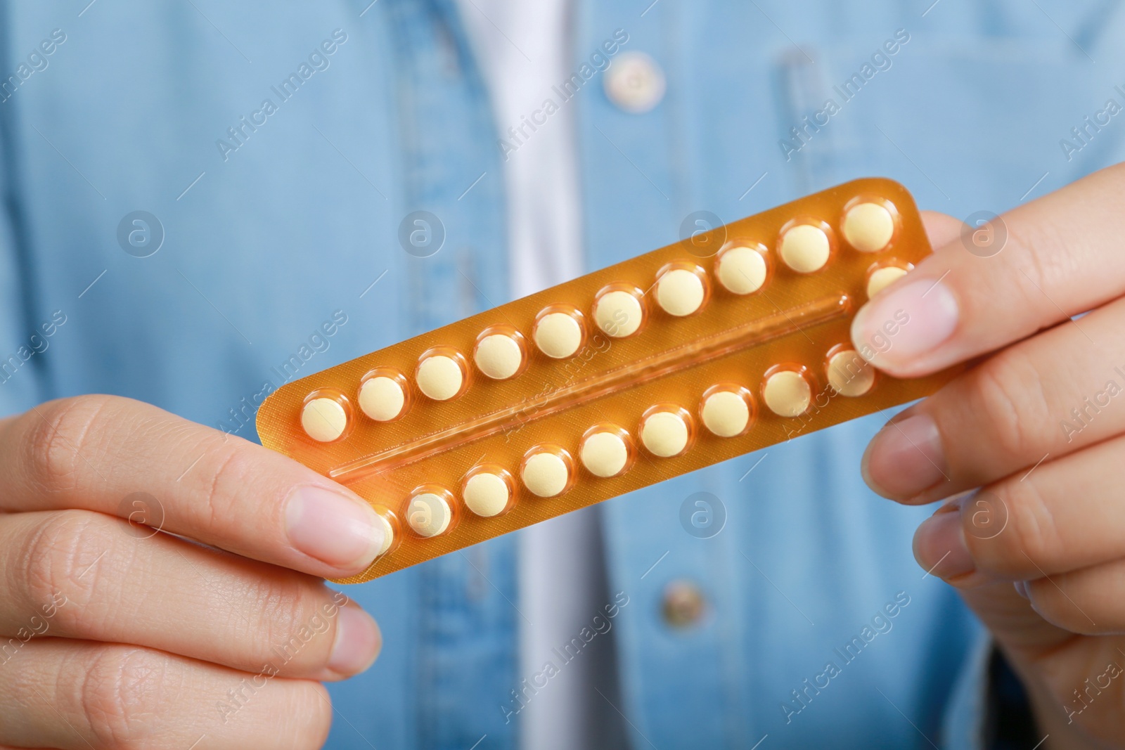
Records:
[[[1125,292],[1116,207],[1125,164],[1032,201],[991,225],[1007,235],[987,252],[958,237],[856,314],[861,353],[899,377],[915,377],[994,351]],[[973,247],[974,252],[970,252]],[[889,349],[883,325],[906,317]],[[878,353],[876,353],[878,352]]]

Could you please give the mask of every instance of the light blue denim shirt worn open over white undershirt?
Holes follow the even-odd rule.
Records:
[[[254,439],[270,387],[508,300],[498,128],[452,0],[87,2],[4,3],[0,413],[101,391]],[[677,240],[695,210],[884,174],[925,208],[999,213],[1125,153],[1104,114],[1125,103],[1120,3],[575,8],[575,70],[624,29],[667,76],[644,115],[600,81],[566,103],[591,269]],[[431,257],[398,242],[414,210],[444,227]],[[860,478],[886,417],[603,506],[634,747],[970,747],[979,629],[914,562],[928,509]],[[698,491],[726,510],[711,539],[680,522]],[[513,552],[497,539],[346,589],[386,645],[331,687],[328,747],[514,744]],[[694,625],[662,616],[673,581],[702,593]]]

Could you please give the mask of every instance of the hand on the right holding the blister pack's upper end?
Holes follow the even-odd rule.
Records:
[[[996,352],[884,426],[863,469],[901,503],[960,494],[918,528],[915,554],[992,631],[1044,747],[1125,747],[1123,219],[1125,165],[984,227],[1006,229],[996,254],[929,216],[938,250],[852,328],[868,343],[906,313],[873,358],[900,377]]]

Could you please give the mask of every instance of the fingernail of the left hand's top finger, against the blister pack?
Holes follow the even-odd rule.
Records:
[[[382,523],[360,499],[304,485],[289,494],[285,509],[289,543],[336,568],[362,568],[382,549]]]

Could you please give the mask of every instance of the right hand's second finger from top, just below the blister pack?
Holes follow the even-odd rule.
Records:
[[[1125,300],[1110,302],[897,415],[867,446],[867,482],[884,497],[929,503],[1125,432],[1123,319]]]

